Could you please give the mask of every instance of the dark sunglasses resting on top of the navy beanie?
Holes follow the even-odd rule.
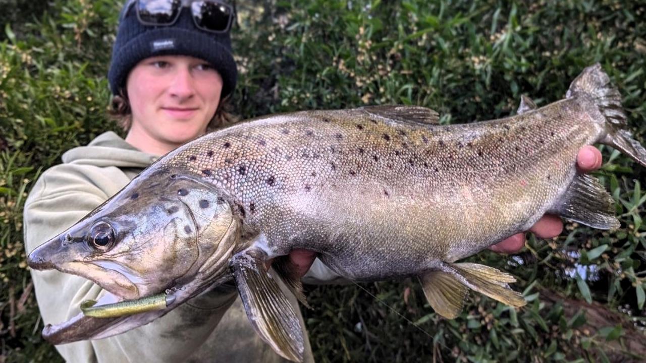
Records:
[[[191,9],[193,22],[200,30],[225,33],[233,23],[233,6],[218,0],[130,0],[128,9],[134,6],[137,19],[143,25],[171,26],[180,18],[182,8]]]

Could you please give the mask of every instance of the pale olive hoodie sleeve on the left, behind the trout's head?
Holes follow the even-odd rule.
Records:
[[[70,227],[128,182],[117,168],[58,165],[49,169],[25,205],[26,251]],[[96,299],[102,291],[84,278],[59,271],[31,273],[45,324],[79,314],[79,304]],[[56,348],[67,362],[181,362],[205,342],[236,295],[235,289],[215,289],[127,333]]]

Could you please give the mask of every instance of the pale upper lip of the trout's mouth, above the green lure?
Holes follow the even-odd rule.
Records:
[[[136,285],[136,282],[139,281],[135,278],[136,275],[129,273],[129,269],[115,262],[107,260],[73,261],[57,265],[55,268],[63,273],[87,278],[123,300],[136,300],[141,297]],[[134,278],[135,281],[130,280],[129,277]]]

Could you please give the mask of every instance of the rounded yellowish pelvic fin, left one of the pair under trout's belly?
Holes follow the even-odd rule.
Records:
[[[460,315],[468,288],[455,276],[435,270],[419,276],[419,282],[428,304],[435,313],[447,319],[454,319]]]

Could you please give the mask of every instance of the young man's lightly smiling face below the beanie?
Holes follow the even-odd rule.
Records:
[[[159,56],[132,68],[126,87],[129,135],[172,149],[206,131],[218,108],[222,77],[202,59]]]

